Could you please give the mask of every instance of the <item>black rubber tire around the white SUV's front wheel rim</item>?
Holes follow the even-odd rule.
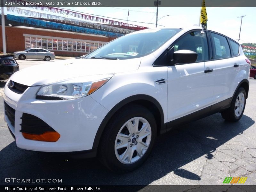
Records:
[[[123,129],[121,129],[122,126],[124,126],[125,123],[127,123],[128,121],[130,122],[130,120],[132,118],[138,118],[138,119],[141,118],[141,119],[145,119],[148,122],[148,124],[150,125],[148,127],[151,129],[151,139],[149,139],[150,142],[148,143],[148,148],[146,149],[144,154],[140,156],[139,153],[137,152],[137,148],[139,146],[141,146],[141,142],[145,138],[148,139],[149,137],[147,136],[144,139],[141,139],[143,137],[141,137],[141,138],[139,137],[140,133],[138,133],[138,134],[136,133],[137,135],[134,135],[133,137],[137,138],[136,136],[138,136],[138,139],[134,140],[134,138],[132,138],[132,133],[130,133],[132,140],[130,140],[130,142],[128,143],[127,151],[129,149],[129,147],[131,146],[131,144],[134,145],[133,147],[135,147],[135,148],[137,146],[137,148],[135,150],[136,152],[134,151],[131,154],[133,154],[132,159],[136,159],[136,158],[139,158],[139,159],[137,159],[135,162],[132,162],[130,164],[125,164],[125,163],[122,163],[120,160],[118,160],[116,153],[119,153],[118,152],[119,149],[116,149],[115,147],[119,140],[119,139],[117,139],[117,135],[121,134],[120,131],[121,130],[123,131],[125,129],[125,127]],[[141,122],[140,122],[140,120],[138,120],[138,122],[139,122],[138,123],[138,125],[139,125]],[[140,125],[138,127],[140,127]],[[143,129],[145,130],[146,128],[144,127]],[[148,128],[146,130],[148,130]],[[139,131],[142,133],[142,128],[141,129],[139,128]],[[132,106],[127,106],[127,107],[122,108],[111,118],[110,122],[105,127],[105,130],[101,137],[101,142],[100,142],[99,151],[98,151],[101,163],[103,163],[111,171],[119,172],[119,173],[130,172],[130,171],[137,169],[148,158],[148,156],[153,148],[153,145],[154,145],[156,133],[157,133],[157,126],[156,126],[155,117],[152,115],[152,113],[147,108],[140,106],[140,105],[132,105]],[[116,140],[117,140],[117,142],[116,142]],[[138,141],[137,144],[135,141],[136,142]],[[120,142],[123,143],[123,141],[120,141]],[[131,149],[132,149],[132,147],[131,147]],[[140,149],[142,149],[142,148],[140,148]],[[123,150],[123,148],[121,150]],[[140,150],[140,152],[141,151],[142,150]],[[123,153],[125,153],[125,152],[123,152]],[[127,154],[128,154],[128,152],[127,152]],[[135,155],[135,157],[133,157],[134,155]]]

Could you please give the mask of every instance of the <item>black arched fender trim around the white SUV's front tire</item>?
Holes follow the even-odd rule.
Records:
[[[148,101],[148,102],[153,103],[156,106],[156,108],[158,109],[158,112],[160,113],[160,126],[158,128],[160,128],[160,132],[161,133],[166,132],[166,124],[164,124],[164,112],[163,112],[163,109],[162,109],[161,105],[159,104],[159,102],[155,98],[153,98],[153,97],[151,97],[149,95],[143,95],[143,94],[133,95],[133,96],[127,97],[126,99],[124,99],[124,100],[120,101],[119,103],[117,103],[115,105],[115,107],[113,107],[108,112],[108,114],[105,116],[105,118],[101,122],[100,127],[99,127],[99,129],[98,129],[98,131],[97,131],[97,133],[95,135],[94,142],[93,142],[93,145],[92,145],[92,149],[93,148],[97,148],[99,146],[100,137],[101,137],[101,135],[102,135],[102,133],[104,131],[104,128],[108,124],[108,121],[111,119],[111,117],[119,109],[121,109],[122,107],[124,107],[128,103],[132,103],[132,102],[136,102],[136,101]],[[157,119],[156,119],[156,121],[157,121]]]

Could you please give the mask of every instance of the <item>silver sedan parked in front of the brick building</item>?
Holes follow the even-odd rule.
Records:
[[[14,52],[14,57],[20,60],[24,59],[43,59],[49,61],[55,59],[54,52],[50,52],[46,49],[41,48],[29,48],[25,51]]]

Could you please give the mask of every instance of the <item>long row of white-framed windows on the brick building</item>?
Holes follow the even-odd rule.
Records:
[[[83,40],[64,39],[60,37],[25,36],[26,49],[43,48],[58,51],[91,52],[103,44],[103,42],[85,42]]]

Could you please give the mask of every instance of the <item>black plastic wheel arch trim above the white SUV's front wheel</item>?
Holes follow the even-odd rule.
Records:
[[[98,148],[102,133],[106,125],[108,124],[108,122],[111,120],[112,116],[115,113],[117,113],[119,110],[121,110],[123,107],[132,105],[132,104],[138,104],[148,108],[148,110],[153,114],[153,116],[156,119],[157,134],[160,134],[166,131],[164,127],[164,112],[159,102],[155,98],[148,95],[143,95],[143,94],[133,95],[117,103],[108,112],[108,114],[105,116],[105,118],[101,122],[99,129],[95,135],[92,148]]]

